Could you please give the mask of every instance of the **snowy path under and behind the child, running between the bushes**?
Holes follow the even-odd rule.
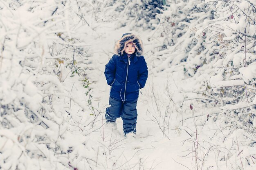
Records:
[[[105,31],[108,32],[108,35],[105,35],[105,37],[101,37],[101,39],[96,36],[94,37],[95,41],[92,43],[93,57],[91,58],[94,68],[91,68],[89,73],[90,81],[93,82],[91,87],[94,89],[92,96],[94,102],[99,102],[96,105],[99,105],[99,110],[102,112],[100,119],[104,118],[110,89],[103,74],[105,65],[110,57],[112,57],[115,42],[123,33],[130,32],[126,28]],[[143,37],[143,35],[140,36]],[[146,61],[148,57],[150,56],[145,56]],[[137,139],[129,141],[124,137],[121,118],[117,120],[117,130],[112,132],[111,127],[104,125],[90,134],[92,144],[99,144],[99,150],[107,155],[105,160],[108,165],[107,169],[185,168],[180,163],[177,163],[181,161],[179,157],[180,152],[186,150],[186,147],[182,146],[184,137],[177,137],[176,131],[170,130],[168,131],[170,139],[168,139],[166,136],[163,136],[158,123],[154,120],[154,117],[157,118],[159,113],[152,107],[155,101],[151,90],[153,84],[157,85],[156,89],[164,88],[165,82],[161,80],[162,78],[157,81],[149,70],[146,87],[141,90],[142,95],[140,94],[137,103]],[[155,96],[161,96],[160,92],[161,90],[156,91]],[[173,115],[173,117],[175,116]],[[104,122],[105,120],[99,120],[97,126],[102,126]]]

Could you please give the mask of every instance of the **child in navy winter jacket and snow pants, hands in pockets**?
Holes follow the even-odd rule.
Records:
[[[139,89],[148,78],[148,68],[142,54],[141,40],[126,33],[115,45],[115,53],[105,68],[105,76],[110,85],[109,105],[106,122],[122,118],[124,135],[135,135],[137,121],[137,100]]]

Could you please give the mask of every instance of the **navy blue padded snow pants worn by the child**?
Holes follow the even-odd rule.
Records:
[[[136,133],[137,121],[137,99],[122,102],[115,98],[109,98],[110,107],[106,108],[105,118],[107,122],[115,122],[117,118],[122,118],[124,134]]]

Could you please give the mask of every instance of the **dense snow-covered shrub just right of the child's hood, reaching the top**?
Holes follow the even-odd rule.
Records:
[[[198,68],[214,57],[215,50],[207,49],[205,33],[195,34],[205,19],[213,17],[211,9],[203,0],[180,0],[172,2],[169,7],[157,14],[159,24],[149,39],[157,38],[159,58],[155,62],[157,71],[170,69],[173,65],[184,65],[182,71],[191,77]],[[200,37],[200,38],[198,38]],[[207,54],[206,54],[207,53]]]

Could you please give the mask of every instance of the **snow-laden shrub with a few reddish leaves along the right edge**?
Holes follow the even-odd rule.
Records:
[[[214,20],[205,20],[198,34],[206,33],[218,51],[210,78],[212,95],[221,98],[221,109],[246,126],[256,127],[256,2],[206,0]],[[237,126],[237,125],[235,125]],[[240,125],[239,125],[240,126]]]

